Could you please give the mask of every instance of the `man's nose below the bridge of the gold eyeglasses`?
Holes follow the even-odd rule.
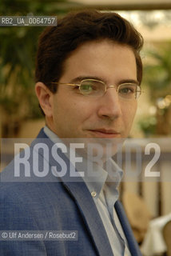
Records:
[[[121,102],[117,91],[113,86],[106,90],[105,94],[99,99],[98,116],[114,120],[121,117]]]

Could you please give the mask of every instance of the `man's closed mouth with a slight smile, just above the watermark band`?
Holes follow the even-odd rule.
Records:
[[[121,138],[121,134],[115,130],[108,130],[108,129],[95,129],[89,130],[93,137],[98,138]]]

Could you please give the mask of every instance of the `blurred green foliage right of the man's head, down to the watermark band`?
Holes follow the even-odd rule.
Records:
[[[138,125],[145,136],[169,135],[171,133],[171,42],[155,43],[153,47],[146,49],[145,55],[148,62],[144,65],[142,83],[149,89],[149,99],[156,108],[156,113],[142,117]]]

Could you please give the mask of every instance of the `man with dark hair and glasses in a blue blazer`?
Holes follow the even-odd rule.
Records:
[[[30,172],[37,171],[38,158],[54,175],[12,183],[2,175],[0,230],[76,230],[78,240],[3,240],[2,256],[141,255],[117,200],[121,169],[107,159],[112,170],[94,164],[98,175],[91,180],[82,165],[73,168],[61,145],[66,138],[109,142],[129,135],[141,94],[142,43],[124,18],[95,10],[70,13],[42,33],[35,89],[46,127],[30,146],[28,162]],[[35,149],[38,142],[50,155]],[[54,145],[61,147],[58,154]],[[16,164],[2,174],[13,176]]]

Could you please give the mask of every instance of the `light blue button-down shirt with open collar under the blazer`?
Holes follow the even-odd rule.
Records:
[[[56,142],[58,138],[57,134],[54,134],[47,126],[44,128],[44,132],[52,141]],[[58,138],[58,140],[60,140],[60,138]],[[103,167],[93,162],[90,166],[93,168],[93,174],[97,175],[86,175],[88,165],[87,159],[85,158],[82,158],[82,164],[78,164],[77,170],[78,172],[84,170],[85,176],[82,178],[97,206],[113,254],[115,256],[130,256],[125,234],[114,209],[114,203],[119,197],[117,187],[121,182],[123,172],[112,158],[109,158],[108,161],[110,165],[109,173]],[[72,159],[70,159],[70,162],[72,162]],[[91,171],[89,173],[92,174]]]

